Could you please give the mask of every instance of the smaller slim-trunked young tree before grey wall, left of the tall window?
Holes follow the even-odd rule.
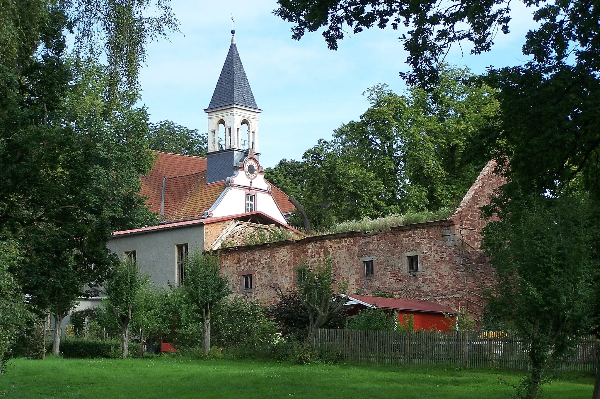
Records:
[[[106,284],[106,303],[115,315],[121,327],[121,355],[128,356],[129,322],[133,318],[136,300],[139,300],[140,290],[147,285],[149,276],[140,278],[140,269],[136,262],[119,264],[110,273]]]

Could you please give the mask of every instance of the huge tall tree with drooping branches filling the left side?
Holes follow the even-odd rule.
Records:
[[[82,288],[116,262],[106,248],[113,230],[156,221],[138,194],[152,155],[148,116],[134,103],[146,41],[176,21],[163,2],[146,16],[149,5],[0,5],[0,230],[22,242],[11,272],[37,311],[55,316],[55,353]]]

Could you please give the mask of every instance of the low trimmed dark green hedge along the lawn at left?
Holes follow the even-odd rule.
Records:
[[[131,355],[139,355],[139,343],[129,343]],[[61,342],[61,354],[65,358],[119,358],[119,340],[98,340],[86,338],[65,339]]]

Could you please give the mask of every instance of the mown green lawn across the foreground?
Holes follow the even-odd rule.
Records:
[[[518,374],[442,367],[151,359],[16,360],[8,398],[508,398]],[[541,398],[589,398],[593,380],[544,386]],[[3,392],[4,391],[4,392]]]

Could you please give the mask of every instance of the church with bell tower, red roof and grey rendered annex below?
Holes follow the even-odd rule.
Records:
[[[287,224],[295,208],[265,179],[260,166],[259,114],[232,31],[208,114],[206,158],[154,151],[140,176],[142,196],[160,215],[158,226],[115,232],[109,248],[136,261],[155,284],[180,285],[194,250],[305,236]]]

